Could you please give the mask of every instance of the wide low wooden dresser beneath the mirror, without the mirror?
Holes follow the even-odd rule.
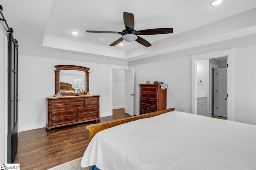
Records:
[[[47,97],[46,130],[87,121],[100,121],[100,96]]]

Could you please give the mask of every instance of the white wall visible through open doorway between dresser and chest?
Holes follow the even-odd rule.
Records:
[[[113,69],[113,109],[124,108],[124,70]]]

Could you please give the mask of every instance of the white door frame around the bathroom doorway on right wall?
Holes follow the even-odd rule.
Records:
[[[214,58],[219,58],[219,57],[228,57],[227,58],[227,86],[228,86],[228,104],[227,104],[227,120],[233,121],[233,59],[234,59],[234,49],[226,49],[226,50],[221,50],[221,51],[214,51],[214,52],[209,52],[209,53],[203,53],[203,54],[198,54],[198,55],[192,55],[191,60],[192,60],[192,67],[191,67],[191,72],[192,72],[192,95],[191,95],[191,112],[196,114],[197,113],[197,103],[196,103],[196,94],[197,94],[197,89],[196,89],[196,80],[197,80],[197,71],[196,71],[196,65],[198,60],[203,60],[203,59],[214,59]],[[210,107],[209,107],[210,109]]]

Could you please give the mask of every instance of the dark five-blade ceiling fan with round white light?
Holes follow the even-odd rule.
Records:
[[[154,29],[144,29],[140,31],[136,31],[134,29],[134,16],[132,13],[124,12],[124,26],[126,29],[124,29],[122,32],[116,32],[116,31],[86,31],[88,33],[118,33],[122,35],[122,37],[116,41],[114,41],[110,46],[117,45],[121,41],[125,40],[128,42],[137,41],[138,43],[144,45],[145,47],[150,47],[151,44],[143,39],[142,37],[139,37],[138,35],[154,35],[154,34],[167,34],[167,33],[173,33],[172,28],[154,28]]]

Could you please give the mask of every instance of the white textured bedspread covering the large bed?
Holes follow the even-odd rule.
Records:
[[[97,133],[81,161],[101,170],[256,169],[256,126],[179,111]]]

